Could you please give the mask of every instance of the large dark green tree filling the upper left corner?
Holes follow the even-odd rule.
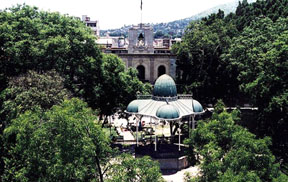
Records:
[[[0,12],[0,91],[8,77],[55,69],[74,96],[96,108],[101,53],[78,18],[18,5]]]

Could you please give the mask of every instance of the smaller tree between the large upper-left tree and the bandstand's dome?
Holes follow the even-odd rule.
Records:
[[[103,55],[102,73],[99,109],[105,116],[117,109],[124,110],[131,100],[136,99],[137,92],[151,90],[151,85],[143,84],[135,69],[126,70],[124,62],[116,55]]]

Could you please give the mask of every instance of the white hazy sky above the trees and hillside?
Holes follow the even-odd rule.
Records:
[[[143,0],[143,23],[183,19],[234,0]],[[99,20],[100,28],[120,28],[141,21],[141,0],[0,0],[0,9],[26,3],[41,10],[58,11]]]

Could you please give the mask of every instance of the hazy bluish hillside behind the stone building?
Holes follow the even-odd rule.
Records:
[[[248,0],[248,2],[252,3],[252,2],[256,2],[256,0]],[[199,14],[193,15],[189,18],[167,22],[167,23],[156,23],[156,24],[150,24],[150,25],[153,27],[155,38],[160,38],[160,37],[165,37],[165,36],[182,37],[185,31],[185,28],[189,25],[191,21],[197,21],[212,13],[217,13],[219,9],[224,11],[225,15],[232,13],[232,12],[234,13],[236,11],[238,3],[239,3],[239,0],[234,0],[231,3],[226,3],[226,4],[215,6]],[[107,34],[107,32],[109,32],[110,36],[127,37],[127,32],[131,26],[132,25],[127,25],[118,29],[101,30],[100,35],[104,36]]]

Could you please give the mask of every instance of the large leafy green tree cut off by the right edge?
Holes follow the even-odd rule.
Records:
[[[259,107],[259,136],[271,136],[273,152],[288,158],[288,19],[259,18],[233,40],[223,60],[238,73],[240,89]]]

